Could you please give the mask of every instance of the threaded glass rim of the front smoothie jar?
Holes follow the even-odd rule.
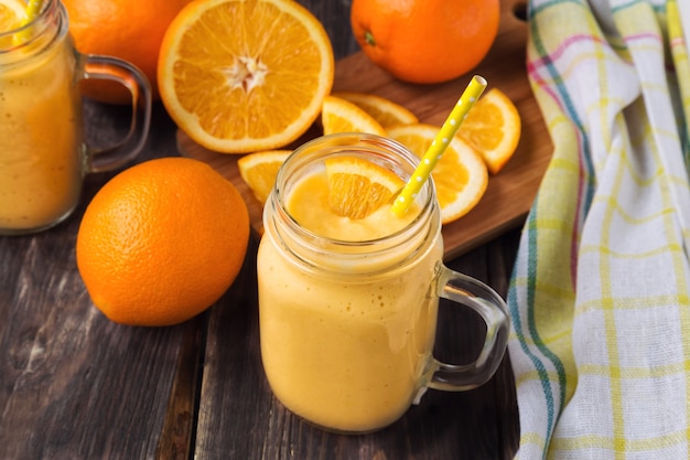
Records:
[[[366,240],[348,240],[324,236],[303,227],[285,205],[285,196],[290,194],[291,186],[299,183],[300,172],[309,171],[310,165],[322,165],[326,158],[353,154],[367,156],[367,159],[387,165],[406,182],[420,161],[401,143],[380,136],[354,132],[322,136],[302,145],[288,157],[266,202],[265,233],[276,238],[276,243],[280,243],[302,265],[312,265],[320,271],[324,268],[323,254],[334,257],[334,267],[337,269],[355,267],[365,256],[395,259],[396,264],[403,264],[432,244],[433,238],[428,238],[429,233],[440,233],[440,212],[432,180],[427,181],[416,196],[418,214],[402,228],[388,235]],[[406,247],[406,250],[401,250],[401,247]],[[396,252],[408,255],[392,257]],[[314,257],[320,260],[319,264],[313,263]]]

